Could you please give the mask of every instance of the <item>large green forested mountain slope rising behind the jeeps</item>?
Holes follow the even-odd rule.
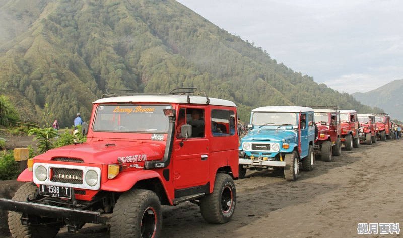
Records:
[[[175,87],[231,100],[244,121],[267,105],[373,110],[173,0],[0,0],[0,94],[22,119],[41,121],[49,103],[70,127],[107,88]]]

